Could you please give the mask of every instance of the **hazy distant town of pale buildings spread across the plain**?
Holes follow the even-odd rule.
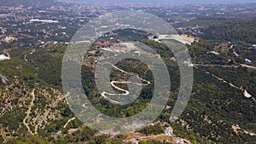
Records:
[[[256,15],[247,4],[155,4],[155,3],[26,3],[0,6],[0,44],[9,47],[45,47],[56,43],[68,44],[73,34],[88,21],[119,10],[140,10],[156,14],[172,25],[198,17],[219,19],[243,18]],[[200,26],[179,26],[177,31],[201,34]],[[30,43],[28,43],[30,42]]]

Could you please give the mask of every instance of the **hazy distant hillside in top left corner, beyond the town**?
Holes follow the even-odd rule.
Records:
[[[32,4],[32,3],[49,3],[49,2],[54,2],[54,0],[0,0],[0,5],[1,6],[16,6],[20,4]]]

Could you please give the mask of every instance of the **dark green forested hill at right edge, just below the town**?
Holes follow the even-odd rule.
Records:
[[[227,40],[233,43],[243,41],[256,43],[256,20],[232,20],[207,26],[201,34],[205,39]]]

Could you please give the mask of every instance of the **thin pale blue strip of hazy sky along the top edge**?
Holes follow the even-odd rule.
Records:
[[[109,3],[256,3],[256,0],[72,0],[76,2]]]

